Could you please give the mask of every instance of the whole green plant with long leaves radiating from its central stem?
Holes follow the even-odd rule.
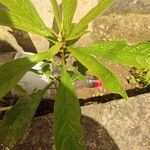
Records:
[[[60,13],[57,1],[51,0],[59,29],[58,34],[45,26],[29,0],[0,0],[0,2],[7,7],[6,10],[0,11],[1,25],[44,36],[53,44],[45,52],[16,59],[0,66],[0,99],[14,88],[34,65],[41,61],[55,63],[49,60],[56,54],[59,54],[61,58],[61,63],[56,63],[61,68],[59,77],[50,75],[49,78],[52,80],[50,85],[43,90],[35,90],[33,94],[24,96],[6,112],[0,123],[0,138],[7,147],[13,148],[34,116],[44,92],[56,81],[59,81],[54,106],[56,149],[85,149],[80,125],[80,105],[73,87],[70,68],[68,69],[66,65],[68,57],[73,55],[93,75],[102,80],[106,89],[127,99],[128,96],[116,76],[98,61],[97,57],[131,67],[150,69],[150,44],[141,42],[130,45],[124,41],[108,41],[95,43],[88,47],[74,46],[76,41],[86,33],[88,24],[102,14],[114,0],[102,0],[77,24],[72,21],[77,0],[62,0],[63,14]]]

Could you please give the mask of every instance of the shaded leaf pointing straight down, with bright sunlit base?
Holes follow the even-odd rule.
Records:
[[[84,150],[81,144],[81,110],[66,70],[62,69],[61,83],[54,106],[54,137],[57,150]]]

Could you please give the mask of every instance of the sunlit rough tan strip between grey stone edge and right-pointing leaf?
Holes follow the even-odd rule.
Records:
[[[95,41],[150,41],[150,15],[113,13],[99,17],[93,23],[91,38]]]

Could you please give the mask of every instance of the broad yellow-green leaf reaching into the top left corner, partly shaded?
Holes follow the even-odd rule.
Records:
[[[44,37],[53,36],[54,32],[45,26],[29,0],[0,0],[8,10],[0,11],[0,25],[33,32]]]

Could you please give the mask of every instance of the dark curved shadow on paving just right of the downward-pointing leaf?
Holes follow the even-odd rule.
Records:
[[[87,116],[82,116],[85,129],[86,150],[119,150],[107,130]]]

